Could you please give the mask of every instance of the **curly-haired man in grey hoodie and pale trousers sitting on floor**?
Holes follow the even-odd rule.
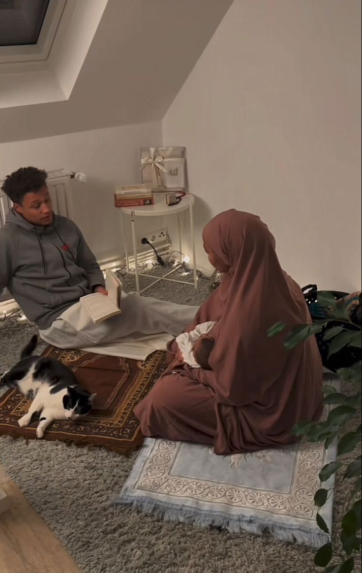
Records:
[[[197,307],[122,292],[122,314],[94,324],[80,297],[107,295],[102,270],[76,224],[55,215],[47,174],[22,167],[2,190],[13,202],[0,229],[0,293],[7,287],[40,336],[60,348],[134,343],[159,333],[177,336]]]

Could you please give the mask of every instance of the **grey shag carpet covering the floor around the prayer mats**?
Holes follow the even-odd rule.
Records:
[[[180,274],[179,278],[185,279]],[[195,294],[192,286],[162,281],[146,294],[200,304],[208,296],[208,285],[209,280],[200,278]],[[123,277],[123,286],[126,291],[133,289],[133,278]],[[0,320],[0,372],[14,364],[34,332],[36,327],[18,315]],[[110,502],[119,494],[136,457],[137,453],[126,458],[61,442],[29,441],[27,445],[23,439],[0,438],[2,465],[84,573],[321,571],[313,565],[313,550],[267,535],[197,528],[114,508]],[[339,477],[334,520],[340,519],[346,496]],[[355,571],[360,570],[357,564]]]

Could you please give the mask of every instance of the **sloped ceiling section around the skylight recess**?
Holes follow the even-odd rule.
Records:
[[[161,120],[231,3],[109,0],[69,100],[1,109],[0,142]]]

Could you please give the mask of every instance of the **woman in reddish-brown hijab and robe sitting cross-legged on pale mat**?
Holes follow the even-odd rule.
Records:
[[[224,274],[188,327],[216,321],[212,370],[174,358],[135,408],[143,434],[213,445],[229,454],[293,442],[293,426],[322,411],[322,364],[313,337],[286,350],[267,338],[276,322],[310,321],[299,286],[282,270],[259,217],[229,210],[203,232],[209,261]],[[176,355],[175,343],[170,352]]]

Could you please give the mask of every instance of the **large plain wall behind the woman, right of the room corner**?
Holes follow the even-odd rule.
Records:
[[[251,211],[299,284],[346,291],[361,286],[360,21],[359,0],[235,0],[162,122],[164,145],[186,146],[198,237]]]

